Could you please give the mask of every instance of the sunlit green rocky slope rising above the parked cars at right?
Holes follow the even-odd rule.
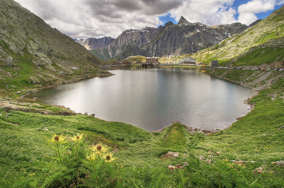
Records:
[[[217,45],[191,54],[199,62],[222,66],[284,67],[284,5],[255,26]]]

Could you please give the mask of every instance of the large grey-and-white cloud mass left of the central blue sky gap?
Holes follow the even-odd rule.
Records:
[[[181,0],[16,0],[53,28],[73,38],[117,37],[126,29],[156,27],[158,16]],[[156,9],[159,7],[159,9]]]

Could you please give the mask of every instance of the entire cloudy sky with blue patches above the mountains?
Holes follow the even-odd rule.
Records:
[[[284,0],[15,0],[72,38],[116,38],[126,29],[156,27],[180,16],[212,26],[249,25],[279,9]]]

